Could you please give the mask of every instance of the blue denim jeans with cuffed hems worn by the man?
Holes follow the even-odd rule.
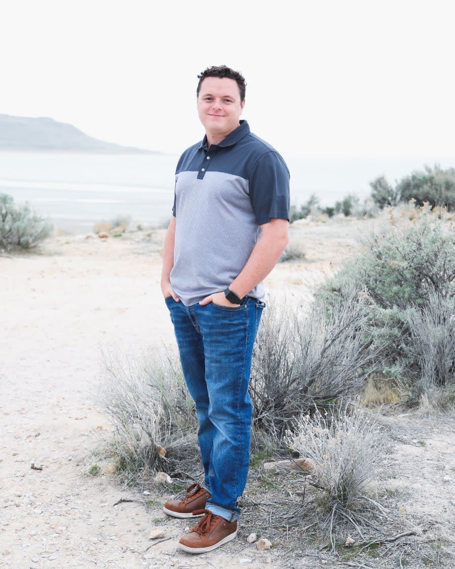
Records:
[[[248,393],[253,345],[264,303],[246,296],[238,307],[185,306],[166,299],[189,393],[196,403],[206,508],[228,521],[250,462],[252,405]]]

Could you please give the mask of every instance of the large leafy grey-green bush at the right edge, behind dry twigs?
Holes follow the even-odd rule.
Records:
[[[338,274],[321,287],[317,302],[330,306],[332,311],[342,310],[348,303],[344,291],[349,284],[359,291],[365,288],[369,297],[364,305],[369,322],[365,346],[370,345],[373,338],[376,365],[383,374],[407,380],[415,389],[421,385],[423,364],[419,354],[421,346],[412,329],[418,326],[416,314],[424,316],[429,323],[438,318],[440,306],[432,300],[434,295],[452,306],[455,230],[444,218],[433,215],[428,205],[416,211],[412,221],[406,220],[404,215],[395,220],[391,210],[389,213],[386,228],[363,238],[361,253],[350,258]],[[450,314],[450,308],[447,310]],[[451,316],[443,328],[448,331],[454,325]],[[445,353],[453,350],[450,345]],[[431,351],[440,353],[436,348],[428,348],[427,352]],[[450,357],[455,358],[455,353],[446,353],[446,360]],[[448,376],[445,373],[438,377],[440,384],[444,384]]]

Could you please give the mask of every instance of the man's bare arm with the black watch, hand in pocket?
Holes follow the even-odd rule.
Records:
[[[238,274],[237,278],[229,284],[231,291],[243,298],[252,288],[257,286],[270,271],[274,268],[284,248],[289,242],[289,222],[287,219],[272,218],[268,223],[260,226],[262,234],[254,246],[245,267]],[[235,306],[231,304],[224,292],[216,292],[206,296],[200,304],[224,304],[224,306]]]

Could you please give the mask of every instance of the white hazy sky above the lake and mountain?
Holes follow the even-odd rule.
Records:
[[[0,113],[181,152],[197,73],[226,64],[285,156],[455,156],[454,21],[453,0],[11,0]]]

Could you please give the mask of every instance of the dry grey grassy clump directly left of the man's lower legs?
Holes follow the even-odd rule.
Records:
[[[95,399],[113,426],[103,450],[122,483],[144,483],[183,463],[187,472],[199,468],[194,403],[173,353],[105,352]]]

